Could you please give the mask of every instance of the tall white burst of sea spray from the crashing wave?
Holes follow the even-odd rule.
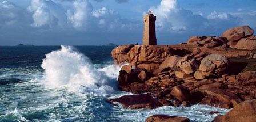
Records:
[[[113,89],[107,85],[107,76],[71,46],[62,45],[60,50],[46,54],[41,66],[45,69],[45,86],[49,89],[62,86],[68,86],[69,91],[85,92]]]

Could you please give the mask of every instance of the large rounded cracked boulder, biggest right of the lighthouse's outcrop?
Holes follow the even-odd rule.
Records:
[[[201,61],[199,70],[205,76],[222,74],[229,65],[229,59],[221,54],[211,54]]]

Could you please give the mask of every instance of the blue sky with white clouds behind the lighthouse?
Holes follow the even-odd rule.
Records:
[[[0,0],[0,45],[142,44],[149,10],[158,44],[190,36],[221,36],[249,25],[256,31],[256,0]]]

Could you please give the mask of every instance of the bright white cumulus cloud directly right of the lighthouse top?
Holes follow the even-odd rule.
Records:
[[[205,18],[195,15],[189,10],[180,7],[175,0],[162,0],[160,5],[152,7],[151,11],[157,15],[159,30],[186,31],[204,23]]]

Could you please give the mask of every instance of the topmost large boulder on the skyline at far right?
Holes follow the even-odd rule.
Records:
[[[254,30],[249,26],[239,26],[235,28],[230,28],[225,31],[221,37],[226,37],[229,41],[238,41],[242,37],[248,37],[253,35]]]

